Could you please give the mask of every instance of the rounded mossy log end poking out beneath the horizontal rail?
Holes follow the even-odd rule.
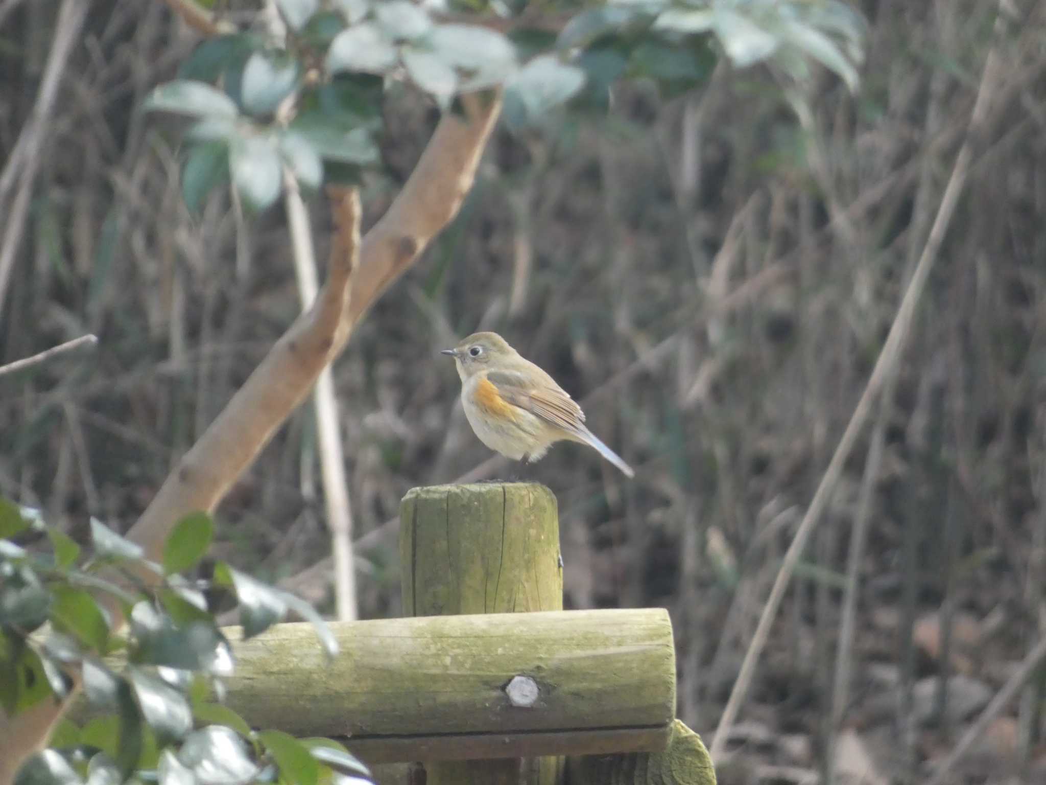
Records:
[[[679,720],[659,753],[568,759],[570,785],[715,785],[715,767],[701,737]]]

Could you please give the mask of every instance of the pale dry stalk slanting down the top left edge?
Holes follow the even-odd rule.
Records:
[[[10,208],[7,209],[7,223],[3,232],[3,245],[0,246],[0,313],[3,312],[4,296],[7,284],[15,267],[15,251],[22,240],[25,228],[25,217],[29,209],[29,195],[32,183],[37,179],[40,167],[40,148],[44,143],[47,130],[50,129],[51,110],[58,96],[59,85],[69,63],[69,53],[73,45],[79,41],[79,30],[84,25],[89,3],[83,0],[64,0],[54,23],[54,41],[47,54],[47,65],[37,93],[37,103],[32,107],[32,116],[25,124],[19,140],[15,145],[18,155],[12,155],[4,172],[0,175],[0,211],[7,201],[6,192],[14,187],[18,177],[18,167],[22,165],[18,194]]]

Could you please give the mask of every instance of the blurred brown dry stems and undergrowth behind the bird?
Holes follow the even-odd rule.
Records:
[[[801,121],[765,69],[724,63],[698,92],[633,83],[606,117],[498,133],[460,217],[334,366],[362,616],[400,613],[408,489],[545,483],[560,501],[568,605],[668,607],[680,716],[714,728],[926,242],[998,12],[859,5],[861,89],[822,74]],[[801,782],[819,768],[862,517],[854,678],[834,731],[867,782],[918,781],[1046,633],[1044,5],[1001,4],[1003,77],[965,194],[895,387],[773,628],[723,782]],[[7,161],[58,8],[0,0]],[[226,192],[190,216],[179,127],[138,111],[198,41],[164,3],[90,4],[0,286],[0,363],[85,332],[100,339],[88,359],[0,383],[0,493],[75,537],[88,514],[119,530],[136,518],[299,311],[282,212],[252,217]],[[407,91],[385,111],[387,171],[365,181],[364,228],[438,118]],[[21,190],[0,181],[5,238]],[[331,227],[315,206],[323,256]],[[636,479],[572,445],[532,467],[492,458],[437,352],[477,329],[549,371]],[[302,407],[220,509],[214,556],[322,606],[315,442]],[[992,724],[955,782],[1046,779],[1044,683]]]

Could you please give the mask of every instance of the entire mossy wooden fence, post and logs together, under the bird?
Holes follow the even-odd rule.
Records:
[[[565,772],[570,785],[714,785],[701,740],[675,719],[667,611],[562,610],[548,489],[415,489],[401,515],[414,615],[331,623],[332,661],[310,624],[248,641],[226,628],[226,703],[248,724],[340,739],[368,764],[420,761],[429,785],[563,785]]]

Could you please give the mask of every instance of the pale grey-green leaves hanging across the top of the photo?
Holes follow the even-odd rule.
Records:
[[[288,27],[283,45],[253,32],[205,41],[182,78],[145,102],[147,110],[200,120],[183,171],[192,211],[226,178],[246,205],[263,210],[279,198],[285,166],[315,189],[379,164],[373,137],[395,82],[442,109],[460,93],[503,87],[505,121],[521,131],[563,108],[607,108],[620,78],[651,80],[666,96],[693,89],[720,52],[734,66],[768,63],[799,83],[819,62],[852,90],[864,33],[842,0],[612,0],[582,10],[559,37],[440,24],[409,0],[277,6]]]

